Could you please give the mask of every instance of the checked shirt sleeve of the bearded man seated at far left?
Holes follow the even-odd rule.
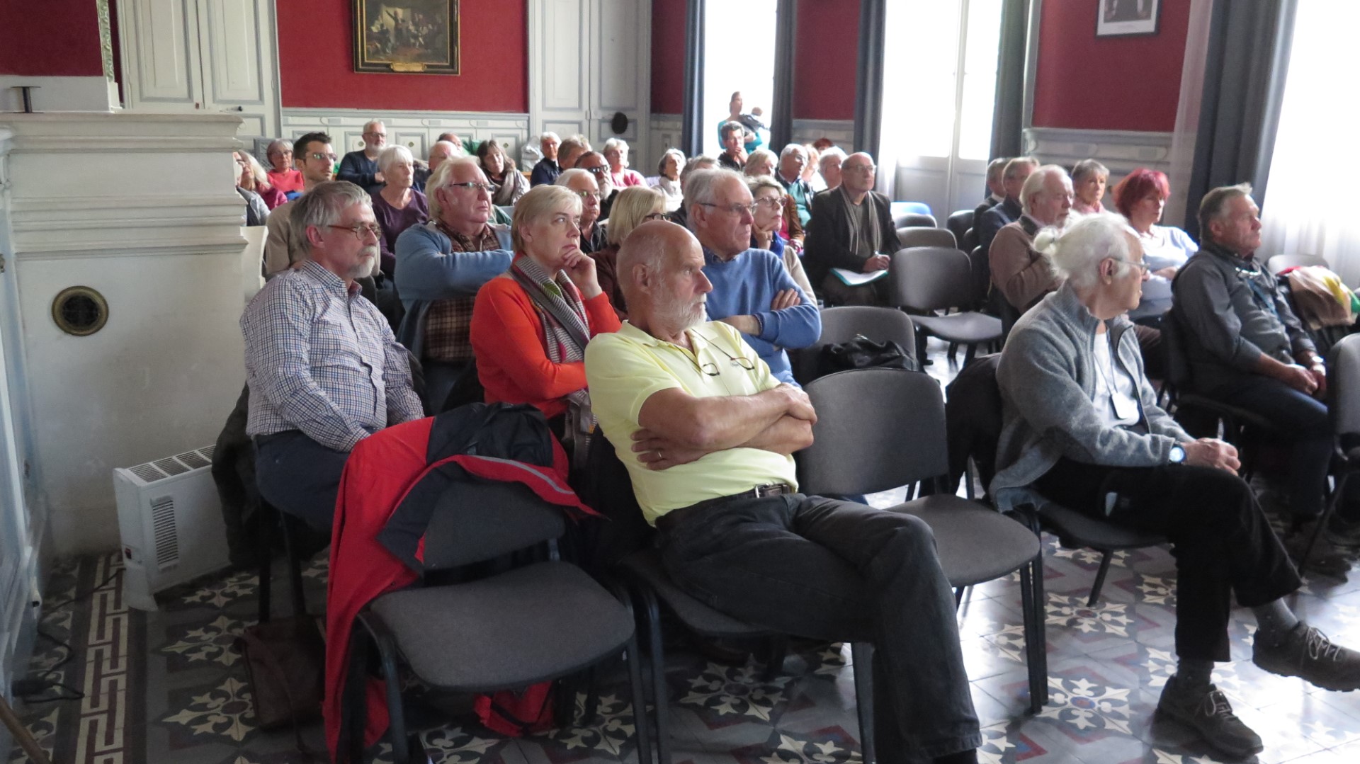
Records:
[[[337,406],[311,375],[311,318],[324,306],[292,280],[269,298],[253,302],[241,318],[252,394],[262,396],[279,417],[317,443],[336,451],[352,450],[369,431]],[[405,389],[411,390],[409,371]]]

